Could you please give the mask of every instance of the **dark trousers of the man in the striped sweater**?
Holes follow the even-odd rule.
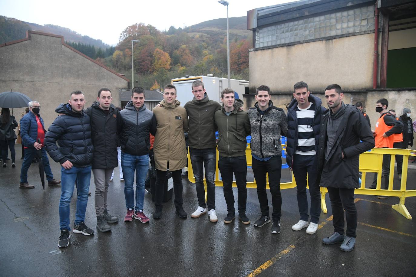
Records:
[[[316,182],[318,172],[317,155],[293,155],[293,174],[295,175],[297,188],[297,206],[300,219],[309,220],[308,198],[306,195],[306,174],[309,182],[309,194],[311,196],[311,222],[318,223],[321,215],[321,194],[319,184]]]

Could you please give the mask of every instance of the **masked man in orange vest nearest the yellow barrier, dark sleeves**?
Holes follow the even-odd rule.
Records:
[[[376,147],[379,148],[393,148],[394,136],[393,134],[401,134],[403,131],[403,124],[396,120],[394,115],[387,111],[389,101],[385,98],[381,98],[376,102],[376,112],[380,114],[380,118],[377,120],[376,129],[371,130],[376,141]],[[384,179],[382,180],[382,189],[389,188],[389,176],[390,176],[390,155],[383,155],[383,167],[381,169]],[[375,189],[377,183],[377,173],[374,174],[373,184],[370,189]],[[378,196],[379,199],[386,199],[388,196]]]

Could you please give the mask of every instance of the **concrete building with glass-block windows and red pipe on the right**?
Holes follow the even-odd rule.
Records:
[[[305,81],[322,100],[327,85],[339,84],[345,103],[364,103],[372,126],[380,98],[398,114],[416,114],[415,1],[301,0],[248,11],[247,29],[253,49],[245,108],[262,84],[286,108],[293,85]]]

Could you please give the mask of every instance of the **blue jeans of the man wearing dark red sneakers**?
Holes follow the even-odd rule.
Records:
[[[126,208],[134,208],[134,172],[136,171],[136,208],[135,211],[143,210],[144,182],[149,169],[149,154],[135,156],[121,152],[121,169],[124,176],[124,197]]]

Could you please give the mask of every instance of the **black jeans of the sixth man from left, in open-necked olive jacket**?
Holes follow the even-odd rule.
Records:
[[[247,203],[247,160],[245,156],[219,157],[218,169],[223,179],[223,191],[228,213],[235,213],[233,194],[233,173],[238,189],[238,213],[245,214]]]

